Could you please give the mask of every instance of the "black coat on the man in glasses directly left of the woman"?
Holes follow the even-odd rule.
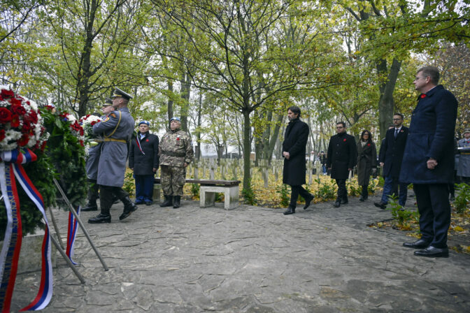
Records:
[[[356,140],[347,133],[336,133],[329,139],[327,168],[332,168],[332,178],[347,180],[348,168],[354,168],[357,159]]]

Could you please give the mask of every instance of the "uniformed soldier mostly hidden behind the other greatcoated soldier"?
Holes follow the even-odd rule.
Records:
[[[101,120],[104,120],[106,119],[108,114],[114,110],[113,100],[111,100],[111,98],[106,98],[106,102],[101,107],[101,110],[103,111],[103,115],[99,115],[98,113],[94,113],[94,115],[97,115],[100,117]],[[82,209],[82,211],[97,211],[98,210],[97,199],[98,199],[99,186],[97,184],[97,178],[98,178],[98,163],[99,163],[100,153],[101,153],[101,143],[98,143],[98,145],[90,147],[90,149],[88,150],[88,157],[85,163],[85,168],[87,170],[87,178],[88,178],[88,183],[90,184],[90,188],[88,189],[88,203],[85,206],[85,208]]]

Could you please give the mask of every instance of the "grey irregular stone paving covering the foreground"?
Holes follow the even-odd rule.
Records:
[[[43,312],[470,312],[470,257],[413,256],[399,231],[369,228],[390,212],[373,198],[284,216],[283,210],[139,206],[86,224],[110,270],[79,233],[80,284],[58,257]],[[66,229],[66,213],[56,211]],[[93,212],[84,212],[83,220]],[[36,296],[38,273],[17,278],[13,310]]]

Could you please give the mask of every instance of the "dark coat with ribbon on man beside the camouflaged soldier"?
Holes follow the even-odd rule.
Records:
[[[131,151],[129,153],[129,168],[134,168],[135,175],[152,175],[153,168],[158,168],[158,136],[145,133],[142,139],[140,132],[136,138],[132,138]],[[142,152],[138,148],[137,141],[141,144]]]

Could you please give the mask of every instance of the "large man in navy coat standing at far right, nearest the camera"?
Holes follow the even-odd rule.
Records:
[[[415,89],[418,105],[411,115],[410,131],[401,166],[400,181],[413,183],[420,212],[421,239],[404,242],[419,249],[416,256],[448,257],[447,231],[450,226],[448,184],[453,182],[453,138],[457,100],[439,82],[434,66],[420,68]]]

